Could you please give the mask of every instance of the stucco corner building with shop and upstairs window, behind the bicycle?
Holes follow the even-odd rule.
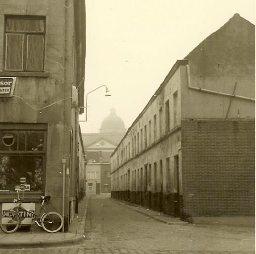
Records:
[[[0,52],[0,210],[23,183],[33,210],[50,195],[67,229],[85,192],[85,2],[1,0]]]

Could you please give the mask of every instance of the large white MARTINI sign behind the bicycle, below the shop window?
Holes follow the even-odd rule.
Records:
[[[3,203],[2,204],[2,214],[6,211],[9,210],[15,210],[15,208],[19,206],[16,203]],[[22,207],[31,211],[35,212],[35,203],[22,203]],[[21,224],[22,225],[31,225],[32,223],[32,214],[27,211],[20,211],[20,217],[21,217]],[[5,218],[4,218],[5,219]],[[7,223],[8,218],[6,218],[6,223]],[[3,220],[4,223],[4,220]]]

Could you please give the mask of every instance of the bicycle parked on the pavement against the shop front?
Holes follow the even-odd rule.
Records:
[[[13,202],[18,203],[19,205],[14,209],[8,210],[2,214],[0,219],[0,227],[3,232],[14,233],[18,230],[18,228],[21,226],[20,212],[27,212],[30,216],[32,216],[32,222],[34,222],[33,224],[38,227],[42,227],[48,233],[56,233],[63,227],[64,219],[59,213],[54,211],[46,212],[43,208],[44,203],[49,201],[51,198],[50,196],[41,196],[41,209],[39,214],[36,214],[21,206],[22,200],[20,199],[19,191],[16,191],[18,199],[14,199]],[[41,215],[42,211],[44,213]]]

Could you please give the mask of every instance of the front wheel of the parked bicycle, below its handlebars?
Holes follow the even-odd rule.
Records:
[[[6,211],[2,214],[0,227],[5,233],[14,233],[21,224],[21,218],[14,211]]]

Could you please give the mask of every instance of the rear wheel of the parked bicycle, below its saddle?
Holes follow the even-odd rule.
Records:
[[[62,216],[57,212],[45,213],[41,218],[42,228],[48,233],[58,232],[64,224]]]

